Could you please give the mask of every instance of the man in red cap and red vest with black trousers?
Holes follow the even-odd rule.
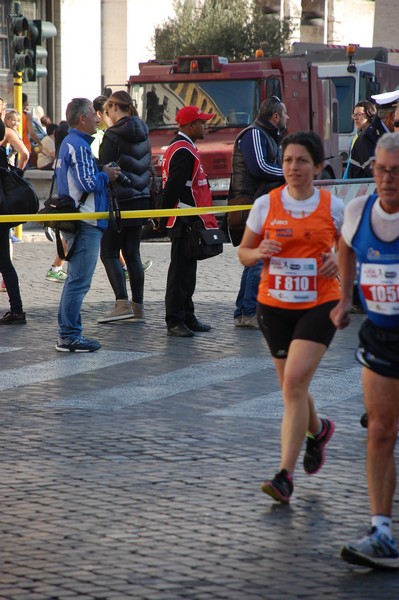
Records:
[[[196,140],[205,135],[205,123],[214,115],[197,106],[184,106],[176,114],[179,131],[168,146],[162,160],[162,208],[212,206],[212,194],[204,172]],[[192,300],[197,277],[197,261],[185,253],[187,225],[202,220],[205,228],[217,227],[214,215],[169,217],[165,220],[171,238],[171,256],[165,294],[165,321],[168,335],[193,337],[209,331],[210,325],[198,321]],[[160,228],[164,219],[160,220]]]

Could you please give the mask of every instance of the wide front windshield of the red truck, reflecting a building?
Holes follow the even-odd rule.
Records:
[[[243,127],[255,119],[260,104],[258,82],[253,80],[140,83],[132,85],[130,93],[150,129],[176,128],[177,111],[189,104],[215,114],[210,127]]]

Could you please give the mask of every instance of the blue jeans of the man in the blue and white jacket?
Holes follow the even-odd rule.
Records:
[[[103,234],[98,227],[83,221],[80,222],[79,228],[75,250],[68,263],[68,277],[63,286],[58,310],[59,337],[68,342],[78,340],[82,336],[80,309],[90,289]],[[69,248],[74,234],[63,235]]]

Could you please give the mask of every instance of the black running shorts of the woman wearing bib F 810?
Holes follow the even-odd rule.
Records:
[[[303,310],[258,304],[259,326],[272,356],[287,358],[292,340],[309,340],[328,348],[336,331],[330,311],[337,303],[332,300]]]

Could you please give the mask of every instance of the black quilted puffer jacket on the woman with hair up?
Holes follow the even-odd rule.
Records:
[[[112,186],[121,210],[148,209],[151,146],[149,129],[139,117],[123,117],[105,132],[99,163],[110,162],[118,163],[127,178],[123,184],[115,182]]]

